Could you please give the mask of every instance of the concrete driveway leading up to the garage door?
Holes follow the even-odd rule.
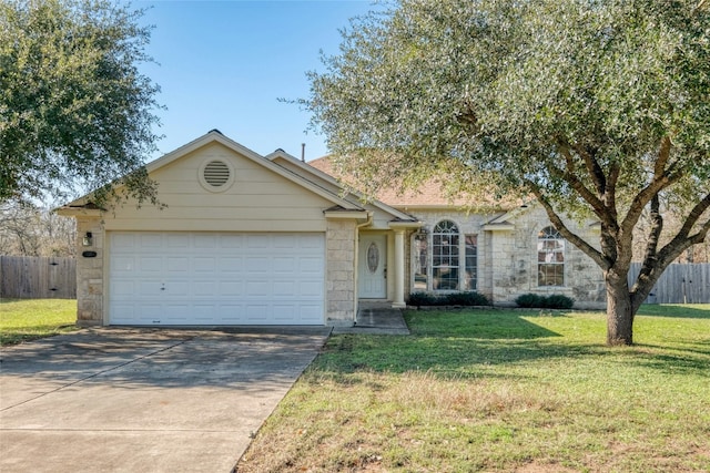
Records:
[[[230,472],[328,328],[85,329],[0,351],[0,471]]]

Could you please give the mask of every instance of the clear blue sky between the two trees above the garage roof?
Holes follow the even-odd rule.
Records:
[[[219,128],[260,153],[276,148],[306,160],[327,153],[307,131],[310,114],[280,97],[308,96],[306,71],[324,71],[320,51],[338,52],[338,29],[373,7],[363,1],[134,1],[153,24],[142,72],[162,88],[160,153]]]

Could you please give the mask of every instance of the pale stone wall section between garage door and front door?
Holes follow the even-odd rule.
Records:
[[[327,220],[325,323],[328,326],[352,326],[355,321],[355,220]]]

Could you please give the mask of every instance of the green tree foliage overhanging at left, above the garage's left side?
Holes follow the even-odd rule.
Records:
[[[0,202],[156,202],[143,160],[159,89],[138,69],[150,61],[141,16],[109,0],[0,2]]]

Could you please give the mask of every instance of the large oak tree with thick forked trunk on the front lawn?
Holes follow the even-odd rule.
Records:
[[[324,63],[303,103],[344,172],[375,189],[437,173],[454,191],[534,195],[602,269],[609,345],[632,343],[663,269],[708,235],[704,0],[400,0],[354,20]],[[660,202],[682,213],[672,235]],[[565,215],[598,219],[600,240]]]

